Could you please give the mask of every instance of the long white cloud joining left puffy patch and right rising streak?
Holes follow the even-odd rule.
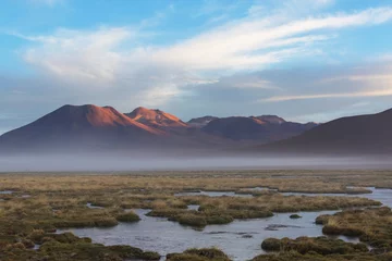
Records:
[[[185,67],[189,71],[261,69],[306,54],[311,51],[313,44],[335,37],[314,34],[316,30],[379,24],[391,18],[392,8],[283,23],[274,17],[244,18],[169,47],[133,46],[134,39],[130,38],[135,32],[128,28],[99,28],[96,32],[59,29],[51,36],[14,35],[41,42],[40,47],[30,48],[25,53],[26,61],[32,64],[64,77],[110,79],[119,66],[127,64]],[[114,50],[124,42],[128,46],[127,50]]]

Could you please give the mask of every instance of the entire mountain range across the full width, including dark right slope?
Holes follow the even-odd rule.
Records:
[[[392,153],[392,110],[323,124],[275,115],[201,116],[188,122],[143,107],[63,105],[0,136],[0,151],[180,151],[260,154]]]

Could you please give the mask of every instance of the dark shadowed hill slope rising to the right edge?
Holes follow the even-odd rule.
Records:
[[[296,137],[260,146],[264,152],[375,154],[392,152],[392,110],[338,119]]]

